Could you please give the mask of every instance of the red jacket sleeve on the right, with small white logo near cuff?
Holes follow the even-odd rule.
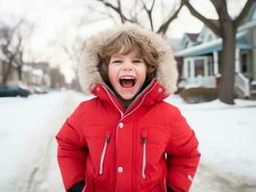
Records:
[[[198,141],[178,109],[170,127],[166,183],[173,192],[188,192],[200,158]]]

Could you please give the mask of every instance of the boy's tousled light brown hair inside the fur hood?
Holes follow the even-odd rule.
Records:
[[[159,53],[152,46],[152,42],[146,36],[135,32],[121,31],[108,38],[98,51],[98,68],[104,82],[109,84],[108,65],[111,57],[116,53],[126,55],[133,51],[146,64],[146,83],[155,78]]]

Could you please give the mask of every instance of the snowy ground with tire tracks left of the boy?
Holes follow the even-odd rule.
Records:
[[[1,192],[64,191],[54,136],[80,101],[74,92],[0,99]]]

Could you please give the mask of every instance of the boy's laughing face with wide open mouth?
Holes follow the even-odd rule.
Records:
[[[111,57],[108,75],[115,92],[124,100],[131,100],[140,91],[146,78],[146,65],[135,52],[116,53]]]

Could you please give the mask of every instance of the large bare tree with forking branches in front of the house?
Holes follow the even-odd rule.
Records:
[[[226,104],[234,104],[236,33],[252,4],[255,3],[255,0],[247,0],[242,12],[233,20],[227,11],[227,0],[210,1],[218,12],[217,23],[197,12],[189,0],[182,0],[183,4],[187,6],[193,16],[202,21],[216,35],[222,38],[222,53],[220,55],[222,68],[218,98]]]

